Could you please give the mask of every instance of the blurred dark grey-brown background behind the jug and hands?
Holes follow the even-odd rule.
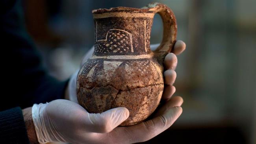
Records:
[[[170,129],[144,143],[256,144],[256,0],[155,0],[176,15],[178,56],[175,95],[183,114]],[[79,68],[94,44],[91,11],[143,7],[149,0],[23,0],[26,26],[58,79]],[[151,44],[162,38],[154,17]]]

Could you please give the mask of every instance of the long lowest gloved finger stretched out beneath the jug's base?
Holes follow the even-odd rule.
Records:
[[[108,136],[113,143],[130,144],[147,141],[169,128],[182,113],[177,106],[168,109],[163,115],[129,127],[117,127]]]

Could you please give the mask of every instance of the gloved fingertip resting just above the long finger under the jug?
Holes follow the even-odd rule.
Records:
[[[154,114],[154,117],[160,116],[164,114],[168,109],[176,106],[181,106],[183,103],[183,98],[180,96],[174,96],[170,98],[160,109],[158,109],[157,113]]]

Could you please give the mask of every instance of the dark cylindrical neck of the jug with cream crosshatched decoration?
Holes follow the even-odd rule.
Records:
[[[93,10],[94,55],[149,54],[154,13],[148,9],[116,7]]]

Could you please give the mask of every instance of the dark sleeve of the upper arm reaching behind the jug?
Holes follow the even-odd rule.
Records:
[[[64,98],[67,81],[53,78],[43,68],[26,31],[20,0],[0,0],[0,22],[0,111]]]

